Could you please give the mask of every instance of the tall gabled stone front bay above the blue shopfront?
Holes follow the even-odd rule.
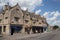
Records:
[[[19,6],[19,4],[16,4],[15,6],[12,7],[10,10],[10,21],[11,23],[22,23],[23,21],[23,12]]]

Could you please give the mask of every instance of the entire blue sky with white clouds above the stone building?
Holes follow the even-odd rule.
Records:
[[[60,0],[0,0],[0,9],[9,2],[10,6],[17,3],[22,10],[44,16],[50,25],[60,26]]]

